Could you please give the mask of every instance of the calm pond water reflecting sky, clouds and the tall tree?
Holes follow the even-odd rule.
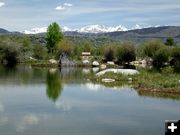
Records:
[[[0,67],[0,135],[163,135],[180,101],[85,79],[87,69]]]

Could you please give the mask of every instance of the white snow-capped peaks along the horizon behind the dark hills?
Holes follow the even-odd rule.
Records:
[[[147,27],[141,27],[140,25],[135,25],[134,27],[128,29],[122,25],[115,26],[115,27],[108,27],[104,25],[88,25],[77,29],[71,29],[69,27],[62,27],[63,32],[67,31],[74,31],[80,33],[108,33],[108,32],[116,32],[116,31],[128,31],[128,30],[135,30],[135,29],[142,29]],[[45,33],[47,32],[47,27],[42,28],[32,28],[31,30],[23,31],[24,34],[38,34],[38,33]]]

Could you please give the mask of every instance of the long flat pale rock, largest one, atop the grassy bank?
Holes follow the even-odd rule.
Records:
[[[98,72],[96,75],[97,76],[101,76],[104,75],[107,72],[113,72],[115,74],[124,74],[124,75],[135,75],[135,74],[139,74],[139,71],[134,70],[134,69],[106,69],[103,71]]]

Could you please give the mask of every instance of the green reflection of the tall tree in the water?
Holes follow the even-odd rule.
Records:
[[[62,93],[62,82],[60,78],[60,72],[56,69],[51,69],[47,73],[47,90],[46,94],[50,100],[56,102]]]

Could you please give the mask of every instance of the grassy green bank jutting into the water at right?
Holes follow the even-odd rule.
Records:
[[[115,82],[104,83],[103,78],[115,79]],[[126,76],[122,74],[106,73],[102,76],[93,76],[94,83],[123,86],[130,85],[138,91],[180,93],[180,74],[157,72],[154,70],[141,70],[139,74]]]

